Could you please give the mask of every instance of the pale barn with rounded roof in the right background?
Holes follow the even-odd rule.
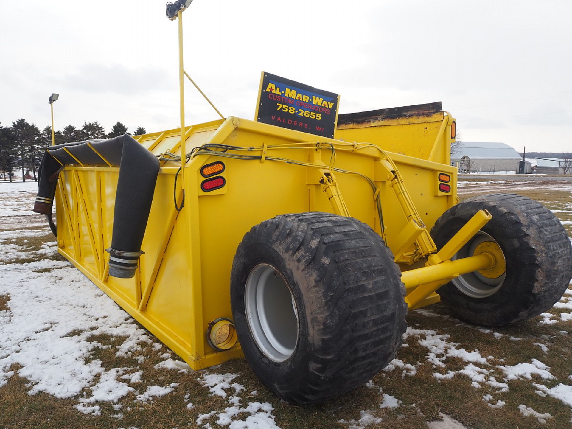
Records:
[[[522,157],[505,143],[462,141],[451,152],[451,165],[461,173],[515,171]]]

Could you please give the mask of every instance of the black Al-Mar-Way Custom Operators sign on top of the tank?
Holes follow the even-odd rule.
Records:
[[[263,72],[256,120],[333,138],[338,101],[332,92]]]

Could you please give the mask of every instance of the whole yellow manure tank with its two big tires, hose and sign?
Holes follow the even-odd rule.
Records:
[[[387,366],[408,309],[500,326],[560,299],[562,224],[516,194],[459,202],[440,102],[339,115],[337,94],[263,73],[256,121],[215,108],[185,126],[191,1],[166,7],[181,126],[47,148],[34,205],[59,253],[191,368],[244,356],[280,398],[324,402]]]

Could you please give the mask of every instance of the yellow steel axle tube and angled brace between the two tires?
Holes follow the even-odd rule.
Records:
[[[463,259],[450,260],[491,219],[492,216],[487,210],[479,210],[439,252],[428,257],[425,267],[402,273],[401,280],[408,291],[405,301],[410,309],[417,308],[431,293],[451,279],[494,266],[494,256],[486,252]]]

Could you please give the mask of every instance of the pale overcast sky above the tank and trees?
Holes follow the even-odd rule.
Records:
[[[340,113],[442,101],[466,141],[572,151],[572,1],[194,0],[185,70],[252,119],[262,70],[341,95]],[[178,124],[165,2],[0,0],[0,122]],[[217,118],[186,82],[186,124]]]

